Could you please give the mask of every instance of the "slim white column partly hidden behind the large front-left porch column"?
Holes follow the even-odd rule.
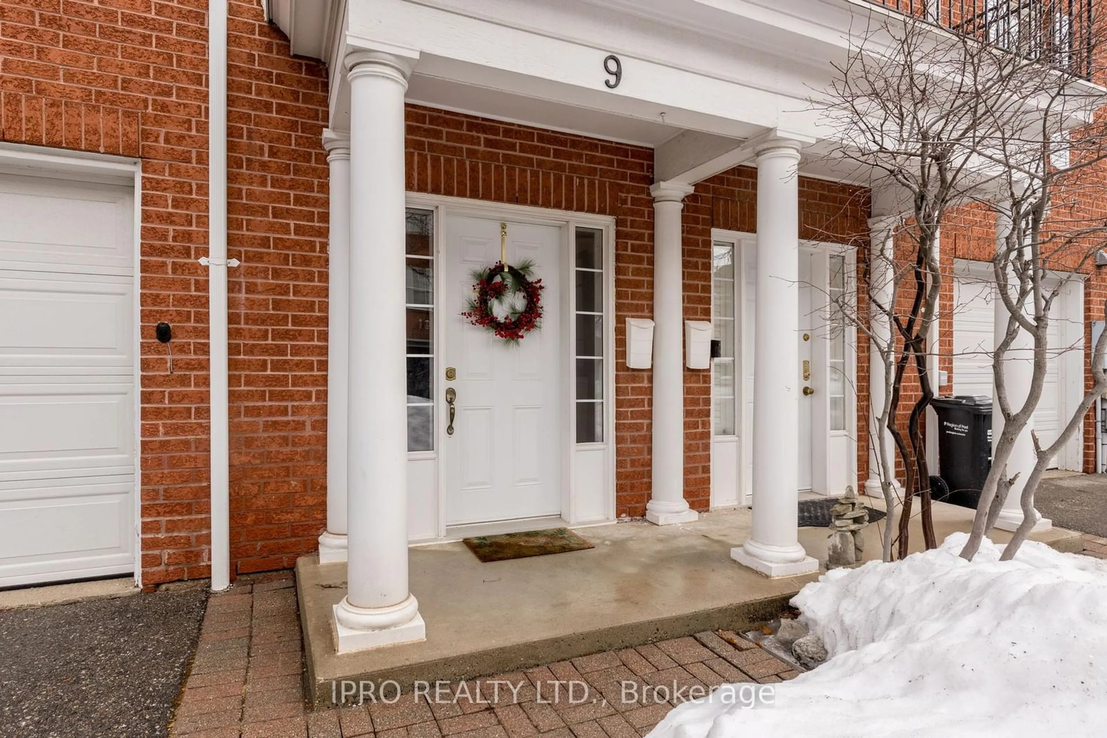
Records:
[[[331,167],[327,314],[327,530],[319,562],[346,560],[346,412],[350,377],[350,135],[327,128]]]

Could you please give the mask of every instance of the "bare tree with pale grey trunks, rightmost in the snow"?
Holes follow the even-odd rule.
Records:
[[[1053,27],[1070,28],[1056,18]],[[990,98],[987,115],[997,122],[999,135],[982,136],[974,152],[999,171],[995,191],[985,202],[996,218],[992,267],[1005,320],[992,361],[993,424],[1002,425],[1002,433],[961,554],[966,559],[975,555],[995,526],[1011,489],[1021,486],[1023,522],[1003,554],[1004,559],[1015,555],[1037,519],[1034,496],[1043,471],[1107,389],[1103,372],[1107,341],[1100,337],[1092,350],[1090,386],[1075,412],[1063,419],[1056,438],[1043,448],[1031,429],[1033,450],[1020,449],[1045,384],[1054,305],[1067,282],[1107,247],[1104,214],[1088,207],[1107,183],[1103,167],[1107,121],[1097,115],[1107,95],[1084,79],[1100,76],[1095,62],[1101,56],[1103,28],[1089,25],[1085,34],[1080,46],[1087,55],[1080,74],[1064,64],[1067,55],[1048,45],[1001,48],[1006,54],[994,49],[979,52],[985,56],[983,69],[1002,70],[1008,80],[1007,97],[1032,104]],[[1062,50],[1072,45],[1064,38],[1054,42]],[[1033,462],[1022,458],[1030,454]]]

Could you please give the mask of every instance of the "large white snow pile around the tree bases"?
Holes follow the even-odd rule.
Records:
[[[826,664],[776,685],[775,706],[716,692],[651,738],[1104,735],[1107,562],[1031,541],[968,562],[965,538],[808,584],[793,604]]]

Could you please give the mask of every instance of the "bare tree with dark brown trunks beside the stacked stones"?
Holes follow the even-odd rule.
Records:
[[[908,17],[882,17],[850,38],[856,45],[814,102],[827,111],[835,128],[832,156],[870,183],[886,210],[902,215],[894,239],[868,260],[869,314],[853,315],[883,367],[883,406],[872,408],[869,443],[876,444],[889,516],[902,507],[897,537],[902,557],[915,497],[924,543],[937,544],[922,425],[934,394],[930,336],[942,290],[940,230],[948,211],[977,185],[969,153],[981,116],[975,96],[956,82],[965,76],[966,60],[952,37]],[[909,377],[913,384],[906,385]],[[904,419],[906,388],[918,393]],[[894,454],[882,443],[886,432]],[[904,476],[902,499],[897,458]],[[884,558],[890,559],[891,524],[883,538]]]

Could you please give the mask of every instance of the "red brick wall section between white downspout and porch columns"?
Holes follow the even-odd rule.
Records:
[[[227,111],[230,555],[284,569],[327,517],[328,121],[322,64],[232,0]],[[198,521],[197,521],[198,522]]]

